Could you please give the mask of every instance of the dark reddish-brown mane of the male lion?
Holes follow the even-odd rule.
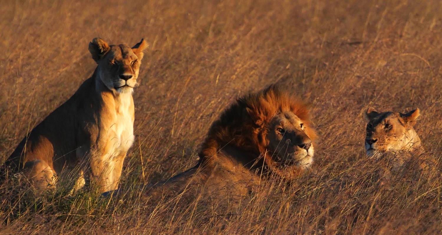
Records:
[[[240,97],[213,122],[199,153],[199,163],[206,163],[225,145],[233,145],[252,155],[264,154],[268,125],[278,112],[291,111],[309,127],[307,134],[316,138],[311,128],[307,105],[276,86]]]

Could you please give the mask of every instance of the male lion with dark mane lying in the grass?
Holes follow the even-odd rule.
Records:
[[[313,161],[308,115],[304,103],[274,86],[239,98],[210,127],[198,164],[156,187],[175,194],[197,184],[211,195],[244,195],[271,173],[296,179]]]

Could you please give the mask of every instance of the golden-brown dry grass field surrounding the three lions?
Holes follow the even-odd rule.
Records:
[[[437,0],[2,1],[3,158],[91,76],[92,38],[150,46],[122,199],[34,197],[3,184],[0,234],[440,234],[441,167],[434,178],[377,177],[383,166],[365,155],[362,113],[419,107],[416,130],[440,159],[441,12]],[[240,206],[140,199],[145,185],[196,164],[227,105],[272,83],[311,104],[319,139],[299,182],[267,183]]]

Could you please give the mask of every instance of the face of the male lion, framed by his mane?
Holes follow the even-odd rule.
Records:
[[[292,112],[282,112],[271,120],[269,148],[273,159],[282,167],[311,167],[314,149],[306,128],[305,123]]]

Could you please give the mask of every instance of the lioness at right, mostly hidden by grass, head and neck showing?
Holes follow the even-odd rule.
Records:
[[[377,112],[369,108],[365,113],[368,121],[365,149],[369,157],[380,158],[391,153],[393,169],[398,169],[412,156],[419,157],[425,150],[413,126],[419,117],[419,108],[406,114],[400,112]],[[429,162],[423,160],[419,168],[427,168]]]

